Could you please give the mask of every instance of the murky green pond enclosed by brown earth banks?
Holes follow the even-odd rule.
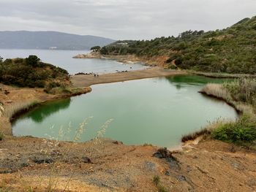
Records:
[[[97,136],[110,120],[104,137],[127,145],[144,143],[173,147],[182,135],[200,130],[217,118],[235,119],[236,111],[223,101],[198,93],[207,82],[226,80],[199,76],[161,77],[92,86],[92,92],[51,101],[13,123],[15,136],[72,141],[86,118],[80,142]]]

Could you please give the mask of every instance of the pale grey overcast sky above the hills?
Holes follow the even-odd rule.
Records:
[[[256,0],[0,0],[0,31],[152,39],[226,28],[254,15]]]

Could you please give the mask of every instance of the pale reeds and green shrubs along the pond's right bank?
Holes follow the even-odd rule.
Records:
[[[241,115],[236,121],[222,121],[211,128],[189,134],[183,137],[182,141],[211,133],[211,137],[214,139],[254,148],[256,146],[256,80],[241,78],[233,82],[225,82],[222,85],[208,84],[202,92],[224,99],[240,111]]]

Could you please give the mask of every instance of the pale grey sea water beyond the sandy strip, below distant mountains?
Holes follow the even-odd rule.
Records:
[[[0,50],[0,56],[6,58],[27,58],[37,55],[42,61],[60,66],[69,74],[78,72],[94,72],[98,74],[113,73],[118,71],[132,71],[146,69],[142,64],[122,64],[110,59],[82,59],[72,58],[80,53],[89,53],[89,50]],[[132,69],[131,69],[132,67]]]

